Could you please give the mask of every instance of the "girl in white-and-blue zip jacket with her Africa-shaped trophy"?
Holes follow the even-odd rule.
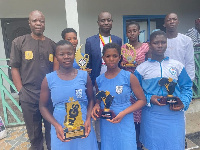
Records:
[[[140,140],[150,150],[184,150],[184,110],[192,99],[192,81],[182,63],[164,57],[166,48],[165,32],[153,32],[152,58],[134,72],[147,99],[142,109]]]

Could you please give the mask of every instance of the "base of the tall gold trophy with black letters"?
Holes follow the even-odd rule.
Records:
[[[76,138],[82,138],[85,137],[85,128],[83,126],[80,127],[80,129],[76,130],[70,130],[68,128],[64,128],[64,140],[71,140]]]

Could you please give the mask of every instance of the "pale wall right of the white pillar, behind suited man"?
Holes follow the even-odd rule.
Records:
[[[123,15],[166,15],[175,12],[179,16],[179,32],[185,33],[193,27],[200,16],[200,0],[77,0],[81,43],[98,33],[97,16],[109,11],[113,16],[111,33],[123,37]]]

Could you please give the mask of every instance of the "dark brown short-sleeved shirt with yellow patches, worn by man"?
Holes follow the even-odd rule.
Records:
[[[10,66],[19,68],[22,80],[20,100],[38,103],[41,83],[53,71],[55,43],[49,38],[35,40],[30,34],[13,40]]]

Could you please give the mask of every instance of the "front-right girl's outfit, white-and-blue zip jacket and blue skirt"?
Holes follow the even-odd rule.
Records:
[[[184,150],[184,110],[188,109],[192,99],[192,81],[183,64],[168,57],[162,62],[148,59],[136,68],[134,74],[147,99],[147,105],[142,110],[140,141],[149,150]],[[166,88],[158,84],[163,77],[170,77],[177,83],[173,96],[180,98],[183,110],[173,111],[169,105],[150,103],[152,95],[167,96]]]

